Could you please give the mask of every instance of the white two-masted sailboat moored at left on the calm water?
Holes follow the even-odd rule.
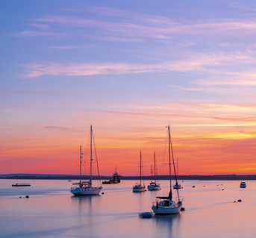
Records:
[[[71,187],[70,192],[74,195],[99,195],[102,187],[93,187],[92,183],[92,170],[93,170],[93,126],[90,126],[90,181],[81,181],[81,165],[82,165],[82,151],[80,145],[80,181],[78,183],[72,184],[76,185]]]

